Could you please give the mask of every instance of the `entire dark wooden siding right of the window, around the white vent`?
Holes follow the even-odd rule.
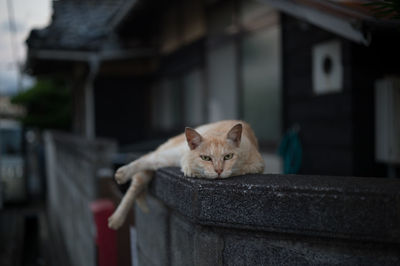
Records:
[[[301,127],[303,174],[385,176],[375,162],[374,84],[400,74],[399,34],[373,35],[366,47],[282,15],[284,128]],[[312,47],[336,39],[342,46],[343,91],[312,91]]]

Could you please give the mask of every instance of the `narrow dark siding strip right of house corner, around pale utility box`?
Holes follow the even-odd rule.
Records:
[[[351,45],[354,175],[386,175],[375,162],[375,101],[377,79],[400,74],[399,31],[373,35],[370,46]]]

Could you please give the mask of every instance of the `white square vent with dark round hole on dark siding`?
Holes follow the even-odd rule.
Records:
[[[315,94],[340,92],[343,88],[342,50],[337,40],[312,48],[313,91]]]

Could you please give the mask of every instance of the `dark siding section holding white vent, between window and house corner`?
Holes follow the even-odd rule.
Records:
[[[349,42],[310,24],[282,15],[284,127],[300,125],[301,173],[351,175],[352,95]],[[339,39],[342,44],[344,89],[316,96],[312,87],[312,46]]]

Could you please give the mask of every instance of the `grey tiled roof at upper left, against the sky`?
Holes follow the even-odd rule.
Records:
[[[133,6],[134,0],[59,0],[53,1],[50,25],[34,29],[28,37],[29,49],[93,51],[118,45],[112,39],[115,20]]]

